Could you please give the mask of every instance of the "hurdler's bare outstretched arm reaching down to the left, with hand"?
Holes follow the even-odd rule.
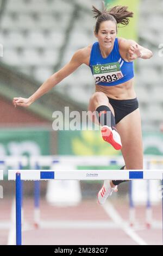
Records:
[[[51,77],[49,77],[36,92],[31,95],[29,98],[23,97],[14,97],[13,104],[14,106],[28,107],[35,100],[39,99],[42,95],[51,90],[59,82],[61,82],[66,76],[70,75],[74,70],[76,70],[80,65],[85,63],[87,56],[87,47],[78,50],[74,53],[72,59],[68,64],[66,64],[62,69],[55,72]]]

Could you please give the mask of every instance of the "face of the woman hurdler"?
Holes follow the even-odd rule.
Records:
[[[95,33],[99,44],[104,48],[111,48],[117,35],[116,24],[112,21],[103,21],[99,27],[98,34]]]

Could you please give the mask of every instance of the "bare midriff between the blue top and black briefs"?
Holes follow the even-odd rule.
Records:
[[[102,92],[115,100],[129,100],[136,97],[134,90],[134,78],[117,86],[99,86],[96,84],[96,92]]]

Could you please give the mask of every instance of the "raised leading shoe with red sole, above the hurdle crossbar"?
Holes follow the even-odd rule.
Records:
[[[116,150],[122,148],[121,137],[117,131],[112,130],[108,125],[104,125],[102,126],[101,133],[104,141],[110,143]]]

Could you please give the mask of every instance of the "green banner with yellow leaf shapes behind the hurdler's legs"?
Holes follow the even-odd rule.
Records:
[[[163,155],[163,133],[143,132],[144,153]],[[63,155],[121,155],[103,141],[100,131],[59,131],[58,154]]]

